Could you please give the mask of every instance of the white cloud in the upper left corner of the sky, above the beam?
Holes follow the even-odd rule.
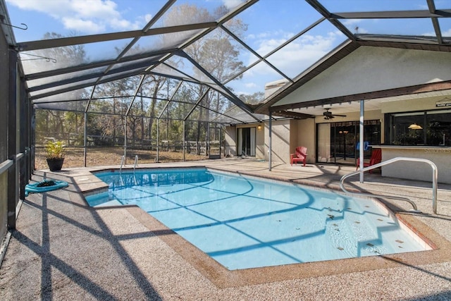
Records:
[[[39,11],[59,20],[66,30],[86,34],[108,30],[137,30],[140,18],[126,20],[111,0],[6,0],[8,4],[28,11]],[[141,18],[142,20],[142,18]]]

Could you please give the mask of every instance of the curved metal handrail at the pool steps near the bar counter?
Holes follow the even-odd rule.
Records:
[[[359,169],[358,171],[354,171],[352,173],[348,173],[345,176],[342,176],[340,179],[340,188],[341,190],[343,190],[346,193],[349,194],[356,194],[356,195],[365,195],[365,196],[370,196],[370,197],[385,197],[385,198],[390,198],[390,199],[399,199],[402,201],[406,201],[409,202],[410,204],[412,204],[412,207],[414,207],[415,211],[418,211],[418,209],[416,208],[416,204],[411,200],[411,199],[407,199],[407,197],[395,197],[395,196],[391,196],[391,195],[373,195],[371,193],[366,193],[366,192],[350,192],[348,190],[345,189],[345,186],[343,185],[344,181],[349,178],[350,176],[355,176],[358,175],[359,173],[364,173],[365,171],[370,171],[371,169],[374,168],[378,168],[381,166],[385,166],[388,164],[392,164],[394,162],[397,161],[415,161],[415,162],[424,162],[429,164],[432,167],[432,210],[434,214],[437,214],[437,182],[438,182],[438,171],[437,171],[437,166],[433,163],[433,161],[428,160],[428,159],[422,159],[422,158],[409,158],[409,157],[405,157],[405,156],[397,156],[393,159],[388,159],[387,161],[383,161],[381,163],[378,164],[374,164],[362,169]]]

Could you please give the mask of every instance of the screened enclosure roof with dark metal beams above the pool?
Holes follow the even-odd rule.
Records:
[[[353,42],[451,47],[450,0],[0,1],[38,109],[259,122]]]

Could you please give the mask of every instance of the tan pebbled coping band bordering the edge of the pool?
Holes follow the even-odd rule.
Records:
[[[211,168],[210,166],[190,166],[193,168]],[[155,167],[161,168],[161,167]],[[172,167],[166,167],[172,168]],[[177,167],[174,167],[177,168]],[[178,167],[180,168],[180,167]],[[93,172],[108,171],[113,168],[102,168]],[[144,169],[144,168],[143,168]],[[146,168],[152,169],[152,168]],[[211,168],[218,171],[226,171],[221,168]],[[257,176],[255,173],[243,173],[249,176]],[[93,173],[91,173],[94,176]],[[85,175],[86,177],[86,175]],[[77,183],[78,176],[73,177]],[[94,178],[97,178],[94,176]],[[310,183],[303,183],[302,181],[288,181],[283,178],[273,176],[263,176],[261,178],[268,178],[272,180],[282,180],[285,183],[298,183],[304,185],[311,185]],[[97,178],[98,179],[98,178]],[[103,183],[103,182],[101,182]],[[93,192],[104,190],[105,184],[101,184],[97,180],[92,179],[88,190],[83,190],[83,186],[78,185],[80,192],[83,195],[91,195]],[[96,189],[94,186],[98,185]],[[333,190],[332,188],[324,188],[321,185],[314,185],[316,188],[323,190]],[[437,264],[451,261],[451,242],[443,238],[440,234],[427,226],[425,223],[416,218],[416,214],[407,212],[396,212],[393,207],[381,202],[383,206],[388,207],[407,228],[413,233],[419,235],[428,245],[434,250],[418,251],[418,252],[404,252],[387,255],[374,255],[369,257],[357,257],[350,259],[328,260],[323,262],[306,262],[300,264],[285,264],[281,266],[266,266],[261,268],[240,269],[230,271],[224,266],[216,262],[207,254],[199,250],[190,242],[182,238],[177,233],[167,228],[160,221],[154,219],[140,207],[136,206],[121,206],[121,207],[93,207],[96,210],[125,208],[132,216],[140,221],[149,231],[158,236],[163,242],[171,247],[175,252],[180,254],[189,264],[194,266],[200,274],[205,276],[217,288],[230,288],[243,285],[256,285],[260,283],[270,283],[276,281],[288,281],[292,279],[302,279],[320,276],[340,275],[362,271],[371,271],[376,269],[391,269],[400,266],[411,266],[416,269],[421,269],[424,264]]]

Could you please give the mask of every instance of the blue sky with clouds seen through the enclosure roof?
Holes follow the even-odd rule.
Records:
[[[210,12],[220,5],[233,8],[242,0],[178,0],[175,5],[194,3]],[[427,9],[426,0],[321,0],[332,12],[340,11],[396,11]],[[63,36],[95,35],[107,32],[141,30],[151,20],[166,0],[6,0],[13,25],[27,30],[14,29],[17,42],[41,39],[45,32]],[[451,9],[451,0],[435,0],[438,9]],[[321,18],[309,4],[299,0],[260,0],[240,13],[248,29],[242,39],[261,56],[279,47],[293,35]],[[430,20],[347,20],[345,25],[358,33],[397,35],[433,35]],[[451,21],[440,23],[443,35],[451,36]],[[141,39],[140,46],[152,47],[151,37]],[[345,41],[345,36],[328,23],[314,27],[302,37],[280,49],[268,61],[290,78],[308,68],[333,48]],[[111,59],[115,47],[121,48],[128,40],[86,45],[91,61]],[[256,57],[243,49],[240,60],[246,66]],[[228,85],[236,94],[263,92],[266,82],[280,80],[282,76],[273,69],[259,64],[242,79]]]

